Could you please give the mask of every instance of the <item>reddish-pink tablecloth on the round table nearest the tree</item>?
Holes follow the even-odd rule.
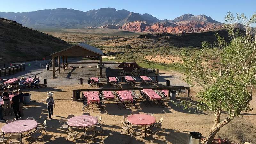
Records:
[[[156,122],[155,117],[146,114],[134,114],[127,117],[127,121],[134,125],[151,125]]]

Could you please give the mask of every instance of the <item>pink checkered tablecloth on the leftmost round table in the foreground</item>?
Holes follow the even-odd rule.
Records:
[[[37,127],[37,122],[34,120],[18,120],[5,124],[2,127],[4,133],[23,133]]]

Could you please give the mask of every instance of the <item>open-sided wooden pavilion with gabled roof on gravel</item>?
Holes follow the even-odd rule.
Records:
[[[65,70],[68,67],[68,64],[87,64],[87,63],[99,63],[100,64],[100,76],[102,76],[102,56],[103,52],[91,45],[85,43],[79,43],[73,45],[69,48],[61,50],[59,52],[52,53],[52,71],[53,71],[53,78],[56,78],[55,72],[59,71],[63,68]],[[60,57],[62,56],[62,63],[63,66],[60,67]],[[68,63],[68,56],[87,56],[87,57],[99,57],[99,62],[72,62]],[[58,59],[58,68],[55,70],[55,57]]]

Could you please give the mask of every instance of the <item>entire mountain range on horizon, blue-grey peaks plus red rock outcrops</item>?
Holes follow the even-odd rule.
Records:
[[[159,20],[150,14],[139,14],[114,8],[87,12],[57,8],[34,12],[0,12],[0,17],[36,29],[113,28],[135,32],[193,33],[223,28],[222,23],[206,15],[185,14],[174,20]]]

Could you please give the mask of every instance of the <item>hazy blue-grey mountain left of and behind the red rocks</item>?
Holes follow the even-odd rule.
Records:
[[[101,8],[87,12],[57,8],[52,10],[39,10],[35,12],[0,12],[0,17],[15,20],[18,23],[33,28],[83,28],[87,26],[123,25],[132,21],[159,21],[150,14],[139,14],[127,10],[114,8]]]

